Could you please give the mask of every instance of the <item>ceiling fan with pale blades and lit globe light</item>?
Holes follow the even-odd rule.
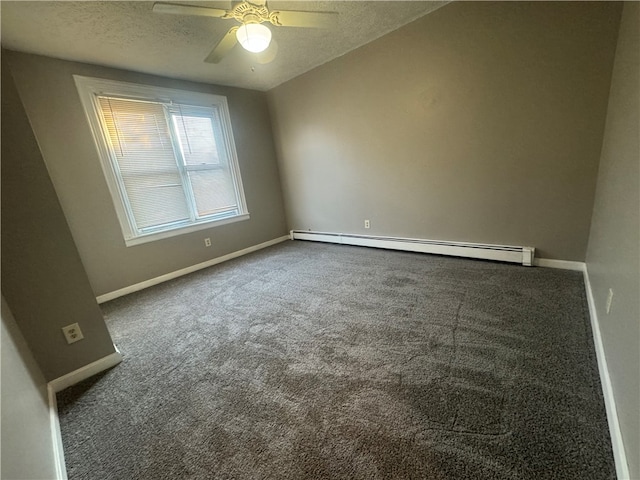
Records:
[[[235,4],[230,10],[158,2],[154,3],[153,11],[174,15],[222,18],[239,22],[240,25],[231,27],[209,56],[205,58],[204,61],[207,63],[219,63],[238,42],[250,52],[264,52],[271,44],[271,30],[263,23],[271,23],[277,27],[323,28],[330,26],[337,16],[336,12],[271,11],[267,7],[266,0],[245,0]],[[267,61],[262,63],[267,63]]]

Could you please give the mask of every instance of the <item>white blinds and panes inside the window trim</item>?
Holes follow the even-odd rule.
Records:
[[[115,176],[138,233],[240,213],[221,118],[194,107],[98,96]]]

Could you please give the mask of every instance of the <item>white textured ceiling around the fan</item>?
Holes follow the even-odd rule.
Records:
[[[447,2],[269,1],[271,10],[338,12],[327,29],[273,27],[275,60],[261,65],[234,47],[204,63],[237,23],[153,13],[154,2],[2,1],[2,46],[10,50],[221,85],[268,90],[375,40]],[[231,2],[173,2],[228,9]]]

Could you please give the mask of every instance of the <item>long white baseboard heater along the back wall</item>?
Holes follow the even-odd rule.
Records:
[[[361,247],[405,250],[408,252],[433,253],[455,257],[479,258],[501,262],[521,263],[531,266],[535,255],[534,247],[512,245],[489,245],[482,243],[445,242],[402,237],[377,237],[351,233],[313,232],[291,230],[291,240],[311,240],[315,242],[340,243]]]

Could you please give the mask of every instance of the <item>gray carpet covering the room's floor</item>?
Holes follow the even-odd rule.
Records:
[[[582,274],[309,242],[103,305],[75,479],[613,479]]]

